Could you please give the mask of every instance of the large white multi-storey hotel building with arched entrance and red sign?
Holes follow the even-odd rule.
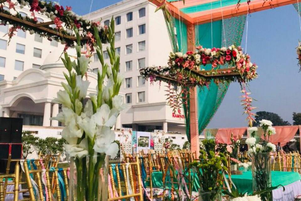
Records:
[[[115,19],[115,48],[120,54],[120,73],[125,78],[120,93],[124,94],[127,104],[116,128],[162,129],[184,134],[184,119],[173,117],[167,105],[165,84],[151,85],[139,73],[145,66],[166,65],[172,50],[163,14],[155,13],[155,9],[148,0],[124,0],[83,17],[93,21],[102,19],[104,24],[109,23],[112,16]],[[22,12],[30,16],[29,10],[22,9]],[[40,21],[49,20],[38,17]],[[18,31],[8,45],[8,36],[3,36],[8,28],[8,25],[0,26],[0,116],[24,118],[24,129],[59,133],[60,124],[51,122],[49,117],[60,110],[60,106],[51,101],[64,79],[64,67],[59,59],[63,46],[39,35],[30,35],[28,31]],[[104,45],[104,50],[106,47]],[[90,68],[94,72],[101,68],[98,57],[93,57]],[[95,89],[96,77],[88,73],[90,91]]]

